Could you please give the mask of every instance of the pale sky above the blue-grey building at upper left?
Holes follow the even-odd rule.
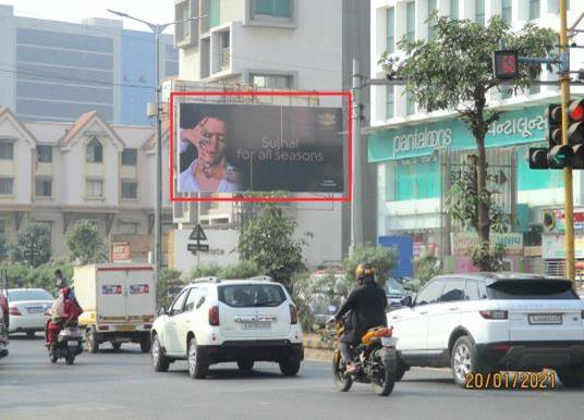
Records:
[[[119,18],[106,11],[113,9],[153,23],[174,21],[174,0],[0,0],[14,7],[14,14],[24,17],[81,23],[85,17]],[[139,23],[124,20],[124,28],[148,30]],[[167,29],[172,34],[172,27]]]

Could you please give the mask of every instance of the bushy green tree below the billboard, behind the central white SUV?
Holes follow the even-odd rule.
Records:
[[[261,213],[244,224],[238,244],[243,260],[253,262],[290,293],[293,274],[305,269],[302,250],[306,240],[294,236],[296,227],[297,223],[288,219],[282,209],[264,205]]]

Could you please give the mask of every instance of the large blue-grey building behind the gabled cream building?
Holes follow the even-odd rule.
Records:
[[[155,38],[120,20],[65,23],[14,15],[0,5],[0,107],[21,121],[74,121],[96,110],[114,124],[149,123]],[[163,76],[179,72],[172,35],[162,36]]]

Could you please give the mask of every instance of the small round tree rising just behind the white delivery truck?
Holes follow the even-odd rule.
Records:
[[[82,264],[108,260],[106,239],[88,220],[77,221],[66,233],[65,243],[71,258]]]

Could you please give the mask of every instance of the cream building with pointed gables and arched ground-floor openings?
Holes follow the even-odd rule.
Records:
[[[84,219],[110,242],[127,243],[133,259],[146,260],[155,173],[149,126],[109,124],[96,111],[69,123],[28,122],[0,109],[0,234],[9,243],[23,224],[46,223],[52,254],[62,256],[68,228]],[[173,226],[168,181],[166,173],[165,232]]]

